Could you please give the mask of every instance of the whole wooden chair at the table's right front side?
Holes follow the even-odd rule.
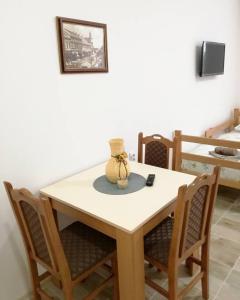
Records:
[[[212,175],[202,175],[179,188],[173,217],[167,217],[144,239],[145,260],[168,274],[168,290],[149,277],[146,283],[167,299],[182,297],[201,279],[202,296],[209,297],[209,243],[212,211],[217,193],[220,168]],[[201,256],[192,254],[201,249]],[[190,283],[178,291],[178,268],[189,259],[201,267]]]

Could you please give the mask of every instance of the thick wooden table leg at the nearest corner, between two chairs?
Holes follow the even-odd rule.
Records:
[[[143,231],[116,231],[120,300],[144,300]]]

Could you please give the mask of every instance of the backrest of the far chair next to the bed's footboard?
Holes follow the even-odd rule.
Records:
[[[143,151],[143,145],[145,145],[145,151]],[[174,168],[175,143],[173,141],[160,134],[145,137],[142,132],[138,134],[138,162],[169,169],[170,149],[172,149],[172,168]],[[143,152],[145,152],[144,160]]]

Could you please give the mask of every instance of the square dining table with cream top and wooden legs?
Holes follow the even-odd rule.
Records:
[[[55,213],[68,215],[116,240],[119,297],[144,300],[144,236],[174,211],[179,187],[189,185],[196,176],[130,162],[132,174],[144,179],[155,174],[153,186],[144,184],[137,191],[109,194],[94,185],[104,177],[105,166],[101,163],[64,178],[40,193],[51,200]]]

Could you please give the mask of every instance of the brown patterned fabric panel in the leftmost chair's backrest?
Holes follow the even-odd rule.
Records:
[[[20,205],[37,257],[41,258],[47,265],[51,266],[51,259],[37,212],[27,202],[21,201]]]

